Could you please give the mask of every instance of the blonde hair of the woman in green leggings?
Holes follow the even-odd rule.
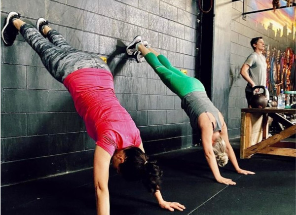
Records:
[[[228,155],[226,154],[226,144],[222,137],[218,137],[213,145],[213,151],[216,156],[217,163],[220,167],[223,167],[228,162]]]

